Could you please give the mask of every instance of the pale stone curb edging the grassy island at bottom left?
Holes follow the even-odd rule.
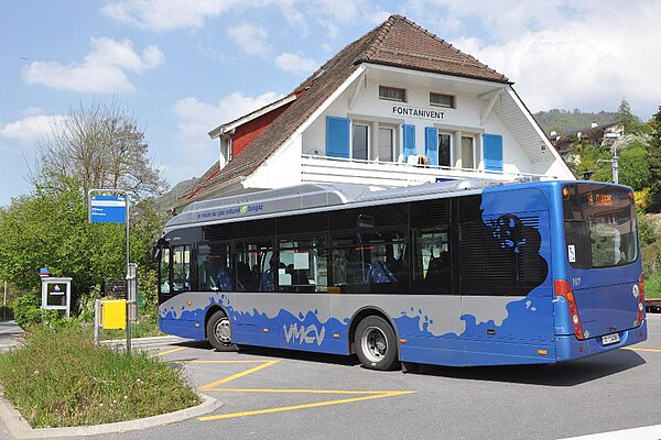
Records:
[[[178,411],[145,417],[143,419],[117,421],[113,424],[82,426],[72,428],[37,428],[33,429],[13,405],[0,395],[0,419],[4,422],[10,436],[14,439],[53,439],[62,437],[87,437],[104,433],[121,433],[155,428],[163,425],[184,421],[194,417],[213,413],[223,406],[214,397],[198,393],[202,404]]]

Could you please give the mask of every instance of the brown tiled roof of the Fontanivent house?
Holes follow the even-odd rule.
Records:
[[[510,84],[503,75],[412,21],[391,15],[304,80],[293,92],[299,98],[224,168],[216,162],[181,205],[209,194],[223,182],[252,174],[362,63]]]

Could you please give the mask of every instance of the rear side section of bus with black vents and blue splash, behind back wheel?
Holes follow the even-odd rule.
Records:
[[[554,359],[551,228],[545,193],[530,187],[487,189],[481,195],[459,198],[458,209],[466,363]]]

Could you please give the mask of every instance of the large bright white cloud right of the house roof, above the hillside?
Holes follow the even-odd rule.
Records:
[[[626,14],[595,4],[586,16],[565,18],[505,44],[464,40],[457,47],[516,81],[532,111],[615,111],[626,97],[636,114],[649,118],[661,97],[661,58],[652,55],[661,41],[659,16],[658,2],[631,3]]]

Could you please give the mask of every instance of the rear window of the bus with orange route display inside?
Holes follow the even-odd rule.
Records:
[[[567,261],[573,267],[615,267],[638,260],[636,209],[627,188],[567,185],[563,211]]]

